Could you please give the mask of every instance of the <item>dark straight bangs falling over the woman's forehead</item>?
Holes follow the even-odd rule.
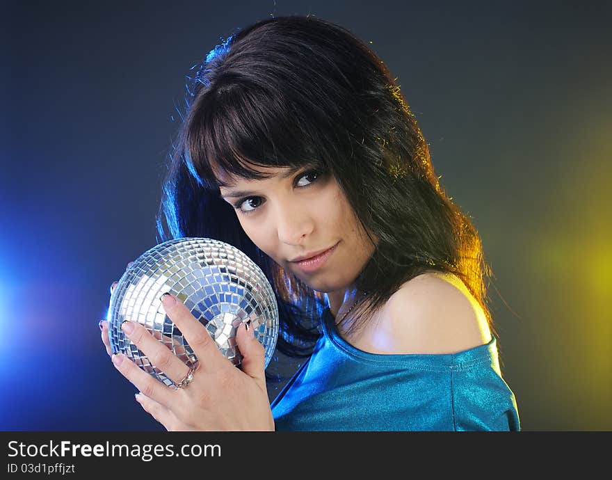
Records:
[[[244,80],[244,79],[242,79]],[[298,113],[280,93],[252,83],[220,82],[198,99],[188,121],[186,162],[195,179],[208,189],[230,177],[265,179],[257,168],[316,166],[328,170],[321,152],[312,145],[313,125],[307,112]],[[314,133],[316,135],[316,131]]]

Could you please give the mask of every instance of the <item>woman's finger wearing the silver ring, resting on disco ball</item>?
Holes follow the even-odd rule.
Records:
[[[138,350],[147,355],[152,365],[163,371],[174,383],[181,383],[189,373],[189,367],[140,323],[126,320],[121,324],[121,330],[138,347]]]

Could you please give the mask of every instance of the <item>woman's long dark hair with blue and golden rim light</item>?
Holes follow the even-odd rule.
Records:
[[[259,179],[254,166],[314,163],[335,176],[370,240],[379,240],[356,280],[368,294],[348,332],[428,271],[460,278],[493,329],[478,232],[440,186],[416,118],[367,45],[322,19],[272,17],[238,29],[192,70],[163,184],[161,241],[210,237],[249,255],[276,292],[279,351],[312,352],[324,296],[250,241],[212,167]]]

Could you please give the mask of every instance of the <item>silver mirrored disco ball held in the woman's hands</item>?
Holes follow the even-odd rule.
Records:
[[[278,337],[274,291],[264,272],[245,253],[207,238],[160,243],[127,268],[113,290],[108,308],[108,337],[113,353],[124,353],[159,381],[175,385],[124,335],[121,324],[130,320],[145,326],[186,365],[195,367],[198,358],[159,300],[166,292],[191,310],[221,353],[236,366],[242,361],[236,328],[250,320],[255,337],[264,346],[268,367]]]

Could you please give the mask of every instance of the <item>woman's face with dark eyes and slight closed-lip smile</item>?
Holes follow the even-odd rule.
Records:
[[[374,246],[333,175],[312,168],[264,168],[266,179],[218,172],[223,199],[236,209],[248,237],[283,269],[316,291],[346,289]],[[296,262],[329,250],[309,262]]]

